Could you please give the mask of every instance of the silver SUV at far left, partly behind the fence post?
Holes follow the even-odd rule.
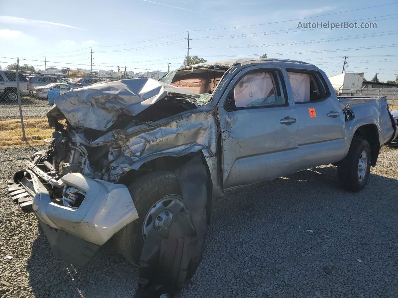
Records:
[[[29,94],[29,84],[23,74],[18,75],[21,96]],[[17,79],[14,70],[0,70],[0,98],[5,101],[18,101]]]

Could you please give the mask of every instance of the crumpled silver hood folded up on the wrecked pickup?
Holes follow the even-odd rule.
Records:
[[[135,116],[168,94],[199,95],[154,79],[125,79],[66,92],[55,100],[74,127],[107,130],[120,114]]]

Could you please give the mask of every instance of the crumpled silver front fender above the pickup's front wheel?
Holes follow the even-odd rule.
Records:
[[[191,110],[168,123],[136,133],[112,131],[121,145],[122,155],[110,164],[109,181],[116,182],[124,172],[138,170],[142,164],[157,157],[177,157],[201,150],[214,156],[217,150],[215,136],[218,135],[215,111],[215,106]]]

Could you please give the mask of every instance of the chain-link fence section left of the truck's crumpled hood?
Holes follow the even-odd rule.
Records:
[[[57,96],[117,79],[121,78],[18,71],[18,63],[17,70],[0,69],[0,147],[43,145],[43,139],[53,132],[46,114]]]

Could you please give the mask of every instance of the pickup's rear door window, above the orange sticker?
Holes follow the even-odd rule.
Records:
[[[296,104],[322,101],[329,96],[329,90],[317,72],[288,70],[290,85]]]

